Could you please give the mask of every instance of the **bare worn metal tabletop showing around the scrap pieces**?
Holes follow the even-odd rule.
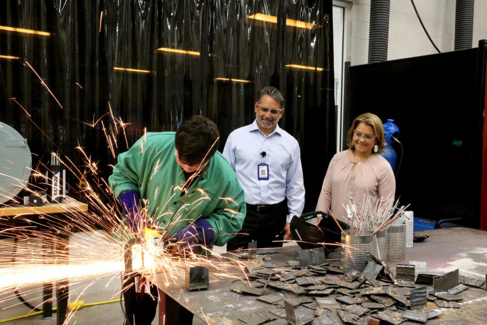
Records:
[[[426,233],[426,232],[425,232]],[[460,269],[460,275],[485,277],[487,274],[487,232],[469,228],[447,228],[427,232],[430,237],[414,247],[406,249],[406,259],[400,262],[387,262],[395,272],[396,264],[409,264],[409,261],[427,263],[427,273],[442,275]],[[275,249],[273,249],[275,250]],[[271,262],[286,265],[286,261],[296,261],[298,246],[279,249],[282,252],[267,254]],[[328,255],[331,264],[339,264],[339,250]],[[334,261],[332,259],[335,259]],[[160,290],[179,302],[197,317],[210,324],[244,324],[238,318],[251,313],[276,309],[276,306],[261,302],[256,296],[240,295],[230,290],[235,279],[213,276],[215,269],[210,268],[210,288],[200,291],[189,291],[185,288],[184,275],[179,276],[177,283],[163,284],[164,275],[159,274],[153,280]],[[244,278],[236,269],[234,273]],[[327,274],[330,277],[336,275]],[[420,285],[417,285],[420,286]],[[269,288],[267,291],[282,292]],[[464,300],[460,309],[438,308],[428,302],[428,309],[441,310],[443,315],[428,321],[428,324],[472,324],[487,323],[487,290],[469,288],[458,294]],[[303,306],[295,308],[296,312],[313,315],[314,310]],[[277,319],[266,324],[283,324],[284,319]],[[403,322],[402,324],[418,324]]]

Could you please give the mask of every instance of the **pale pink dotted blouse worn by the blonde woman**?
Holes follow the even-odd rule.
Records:
[[[372,154],[361,163],[354,164],[349,159],[349,150],[338,152],[328,166],[323,187],[315,211],[331,211],[343,222],[346,220],[345,207],[353,198],[357,208],[368,193],[372,196],[372,205],[377,200],[394,200],[396,179],[391,165],[379,154]]]

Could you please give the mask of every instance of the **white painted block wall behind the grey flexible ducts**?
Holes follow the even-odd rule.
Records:
[[[414,0],[421,19],[441,52],[454,50],[455,0]],[[349,35],[345,60],[367,63],[370,0],[349,2]],[[475,0],[473,47],[487,39],[487,0]],[[410,0],[391,0],[388,60],[436,53]]]

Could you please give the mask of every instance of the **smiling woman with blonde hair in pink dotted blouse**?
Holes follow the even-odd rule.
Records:
[[[378,153],[384,151],[384,126],[372,113],[357,117],[347,135],[349,149],[338,152],[328,165],[315,211],[331,212],[349,223],[345,206],[353,198],[361,205],[367,194],[372,206],[377,200],[394,200],[396,180],[391,165]],[[318,220],[320,221],[320,220]]]

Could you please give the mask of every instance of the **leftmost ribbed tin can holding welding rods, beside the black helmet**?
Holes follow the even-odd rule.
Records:
[[[349,231],[345,230],[345,234],[341,234],[340,249],[340,269],[343,271],[363,271],[367,265],[367,252],[372,251],[373,236],[371,232],[362,232],[361,236],[349,235]]]

